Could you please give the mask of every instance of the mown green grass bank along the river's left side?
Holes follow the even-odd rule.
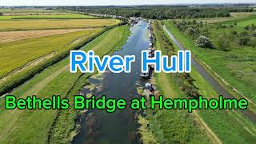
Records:
[[[119,26],[106,31],[82,50],[94,50],[95,54],[100,56],[110,54],[126,42],[128,35],[128,26]],[[19,86],[11,94],[18,98],[26,98],[31,94],[36,94],[38,98],[50,98],[52,94],[60,94],[62,98],[70,96],[71,101],[78,89],[86,84],[88,76],[89,74],[70,74],[69,58],[66,58]],[[66,143],[72,139],[71,131],[74,129],[77,111],[70,113],[69,110],[4,110],[3,99],[0,106],[2,142],[46,143],[49,140],[51,143]]]

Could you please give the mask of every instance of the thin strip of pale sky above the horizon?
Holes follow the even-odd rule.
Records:
[[[256,0],[0,0],[0,6],[174,5],[187,3],[253,3]]]

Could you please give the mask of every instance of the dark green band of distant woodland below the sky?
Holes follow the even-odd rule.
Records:
[[[246,6],[229,7],[175,7],[175,6],[67,6],[58,9],[75,10],[93,14],[121,15],[126,18],[142,17],[150,19],[215,18],[229,17],[230,12],[251,12]]]

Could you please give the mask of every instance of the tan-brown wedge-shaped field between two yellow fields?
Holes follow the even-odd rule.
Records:
[[[90,29],[63,29],[63,30],[20,30],[0,32],[0,43],[13,42],[26,38],[39,38],[54,34],[66,34],[75,31]]]

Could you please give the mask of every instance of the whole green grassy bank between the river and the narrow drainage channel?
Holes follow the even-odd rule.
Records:
[[[170,26],[169,22],[165,22],[167,28],[174,32],[172,27]],[[168,44],[166,42],[166,39],[162,39],[159,36],[159,26],[157,28],[157,25],[161,26],[161,22],[154,22],[154,34],[157,38],[157,47],[158,49],[162,50],[165,54],[168,51],[172,51],[173,53],[178,50],[178,47],[174,45],[173,46]],[[167,36],[167,35],[166,35]],[[163,35],[162,35],[163,37]],[[199,93],[202,94],[205,98],[217,98],[218,94],[215,92],[215,90],[210,86],[208,82],[198,72],[193,68],[192,72],[190,73],[190,76],[194,79],[194,85],[198,87]],[[162,91],[162,94],[164,95],[170,95],[174,98],[182,98],[185,94],[183,94],[180,91],[180,87],[178,86],[178,78],[174,74],[164,74],[160,73],[156,76],[157,86],[158,89],[160,87],[160,90]],[[159,111],[160,112],[160,111]],[[159,113],[158,112],[158,113]],[[220,141],[222,143],[250,143],[254,142],[256,140],[255,137],[255,127],[256,125],[248,119],[244,118],[242,114],[239,111],[235,110],[198,110],[197,112],[194,112],[194,114],[187,114],[186,111],[182,111],[182,113],[175,114],[175,111],[171,111],[170,113],[167,112],[161,112],[163,114],[155,114],[154,116],[150,115],[150,118],[148,118],[150,122],[150,130],[153,131],[153,134],[157,136],[157,139],[164,140],[166,138],[173,139],[182,139],[186,140],[187,142],[206,142],[210,141],[213,143],[218,143],[217,141]],[[196,114],[197,113],[197,114]],[[168,118],[166,115],[170,114],[170,118]],[[174,117],[175,115],[175,117]],[[176,116],[177,115],[177,116]],[[187,115],[186,118],[181,118],[182,120],[186,120],[186,122],[193,123],[194,126],[191,126],[190,128],[185,129],[185,126],[188,126],[186,122],[183,122],[181,119],[177,119],[178,122],[176,122],[176,117],[182,117],[183,115]],[[152,117],[152,119],[151,119]],[[166,122],[168,119],[168,122]],[[198,122],[198,119],[202,119]],[[160,121],[160,122],[159,122]],[[191,122],[194,121],[194,122]],[[205,122],[205,125],[203,124]],[[154,124],[157,123],[157,124]],[[161,125],[159,128],[159,123],[168,123],[168,125]],[[174,126],[171,126],[172,123],[175,123]],[[179,126],[181,124],[182,126]],[[155,127],[154,127],[155,126]],[[179,136],[180,134],[173,134],[175,131],[175,126],[184,128],[185,134],[187,137],[182,138]],[[200,131],[200,127],[203,126],[203,130]],[[171,131],[169,131],[170,127],[172,127]],[[197,129],[199,127],[199,130]],[[209,130],[208,130],[209,129]],[[156,131],[154,131],[156,130]],[[161,131],[165,131],[162,132]],[[168,133],[166,133],[168,131]],[[173,132],[173,133],[171,133]],[[183,132],[183,133],[185,133]],[[212,133],[211,133],[212,132]],[[182,134],[183,134],[182,133]],[[197,134],[206,134],[206,138],[201,138]],[[189,137],[189,135],[195,135],[197,137]],[[207,138],[208,137],[208,138]],[[195,139],[194,139],[195,138]],[[177,141],[178,141],[177,140]],[[163,142],[164,143],[164,142]]]

